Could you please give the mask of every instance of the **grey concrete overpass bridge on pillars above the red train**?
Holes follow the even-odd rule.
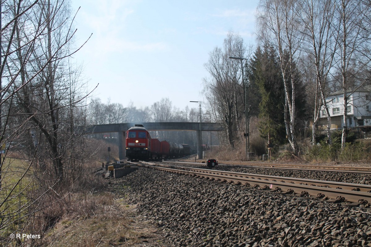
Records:
[[[119,159],[123,160],[126,155],[125,137],[126,131],[134,127],[135,124],[142,124],[148,131],[196,131],[197,132],[197,156],[202,157],[201,131],[223,131],[220,123],[188,123],[188,122],[169,122],[169,123],[119,123],[119,124],[97,124],[89,125],[85,129],[85,134],[99,134],[118,132]]]

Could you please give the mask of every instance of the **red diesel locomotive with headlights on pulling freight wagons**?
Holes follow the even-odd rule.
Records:
[[[128,160],[178,158],[191,154],[187,144],[160,141],[151,138],[142,124],[128,129],[126,133],[126,157]]]

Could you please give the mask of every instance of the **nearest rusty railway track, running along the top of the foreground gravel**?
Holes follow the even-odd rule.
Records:
[[[338,203],[348,201],[357,205],[371,202],[371,185],[365,184],[237,173],[155,164],[144,161],[135,164],[172,173],[187,174],[212,182],[245,184],[262,190],[272,190],[274,193],[295,194],[301,197],[314,196],[323,200],[331,200]]]

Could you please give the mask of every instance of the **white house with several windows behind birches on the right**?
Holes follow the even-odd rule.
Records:
[[[348,95],[347,125],[348,128],[371,127],[371,91],[365,89],[355,90]],[[331,129],[343,127],[344,98],[343,92],[332,93],[326,99],[331,116]],[[319,126],[327,126],[327,114],[324,106],[321,108]]]

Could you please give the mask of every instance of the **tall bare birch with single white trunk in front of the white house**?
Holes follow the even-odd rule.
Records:
[[[367,31],[362,29],[364,16],[362,12],[370,12],[370,8],[358,0],[337,0],[335,1],[335,21],[333,23],[335,31],[339,33],[337,39],[338,49],[336,49],[336,67],[341,74],[340,84],[343,93],[343,128],[341,137],[341,147],[345,146],[345,138],[348,128],[348,101],[354,90],[364,83],[362,74],[367,68],[368,62],[364,63],[362,51],[368,42]],[[354,83],[361,80],[360,83]]]

